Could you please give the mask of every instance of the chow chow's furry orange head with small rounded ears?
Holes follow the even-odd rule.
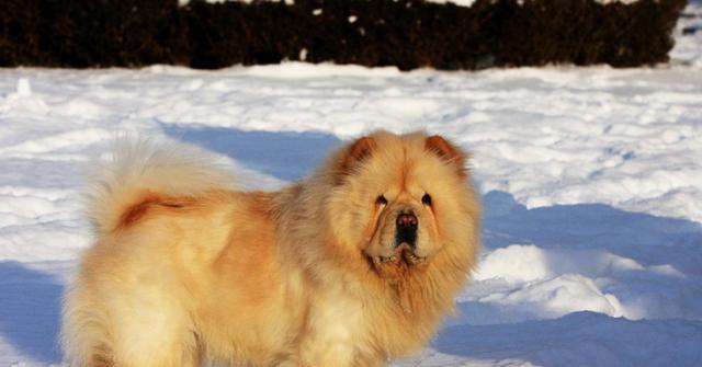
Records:
[[[337,242],[389,278],[442,252],[474,252],[479,214],[465,164],[440,136],[381,131],[355,140],[332,165],[327,214]]]

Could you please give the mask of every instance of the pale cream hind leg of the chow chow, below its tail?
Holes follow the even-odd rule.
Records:
[[[76,367],[196,367],[201,348],[178,287],[109,272],[79,277],[64,308],[66,357]]]

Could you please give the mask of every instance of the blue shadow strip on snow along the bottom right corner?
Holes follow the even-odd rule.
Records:
[[[702,322],[574,312],[553,320],[450,326],[433,344],[445,354],[542,367],[700,366]]]

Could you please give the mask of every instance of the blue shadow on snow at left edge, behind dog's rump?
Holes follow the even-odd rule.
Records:
[[[18,262],[0,262],[0,335],[18,353],[60,362],[61,280]]]

